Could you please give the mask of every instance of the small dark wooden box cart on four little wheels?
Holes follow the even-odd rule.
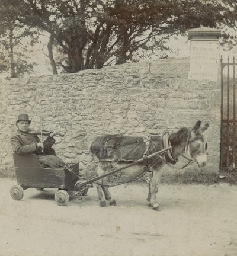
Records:
[[[13,154],[17,185],[11,187],[11,196],[14,200],[21,200],[27,188],[57,188],[55,201],[61,206],[69,202],[70,196],[85,196],[91,184],[83,189],[75,188],[79,180],[79,164],[72,165],[72,171],[66,168],[43,168],[36,155]]]

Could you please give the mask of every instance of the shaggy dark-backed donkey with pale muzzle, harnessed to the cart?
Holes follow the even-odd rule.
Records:
[[[198,167],[204,167],[207,163],[207,143],[204,138],[203,132],[209,127],[209,124],[205,124],[201,127],[201,121],[197,121],[193,129],[182,127],[178,132],[171,133],[168,137],[169,145],[172,150],[165,153],[165,159],[171,164],[175,164],[178,161],[178,157],[183,153],[187,153],[188,158],[191,161],[197,162]],[[143,155],[148,153],[161,151],[167,148],[165,146],[165,140],[161,136],[153,135],[149,138],[149,143],[143,137],[132,137],[123,135],[104,135],[97,137],[91,144],[92,155],[97,156],[99,159],[99,165],[97,169],[97,176],[105,174],[112,168],[119,168],[127,164],[129,161],[136,161],[143,158]],[[154,159],[155,158],[155,159]],[[164,169],[164,158],[151,158],[147,160],[149,167],[150,179],[148,202],[149,206],[153,210],[159,210],[159,204],[156,200],[158,194],[158,187],[161,180],[162,168]],[[123,169],[123,174],[139,175],[144,170],[144,164],[137,164],[133,167]],[[116,201],[111,197],[108,190],[108,176],[103,177],[96,184],[98,199],[100,200],[100,206],[106,206],[106,200],[110,201],[110,205],[115,205]],[[103,196],[104,192],[104,196]]]

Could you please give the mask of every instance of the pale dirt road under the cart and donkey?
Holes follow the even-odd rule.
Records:
[[[1,256],[236,256],[237,187],[166,185],[160,212],[146,203],[146,184],[111,188],[117,206],[101,208],[95,188],[82,200],[57,206],[56,190],[25,190],[1,179]]]

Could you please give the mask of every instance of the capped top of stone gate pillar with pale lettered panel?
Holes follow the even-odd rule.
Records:
[[[217,81],[220,63],[220,29],[200,27],[188,30],[190,70],[188,79]]]

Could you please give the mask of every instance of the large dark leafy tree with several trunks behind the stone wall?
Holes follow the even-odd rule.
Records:
[[[55,63],[51,41],[54,68],[73,73],[134,61],[141,49],[162,50],[174,34],[225,22],[228,8],[214,0],[18,0],[17,12],[20,24],[50,33],[66,56]]]

